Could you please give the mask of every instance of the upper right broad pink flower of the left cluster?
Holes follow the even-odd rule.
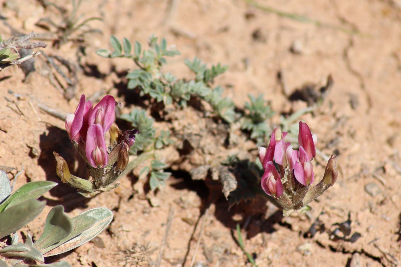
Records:
[[[114,109],[114,97],[106,95],[99,103],[97,103],[97,105],[95,105],[89,114],[89,125],[99,123],[103,129],[103,134],[105,134],[114,122]]]

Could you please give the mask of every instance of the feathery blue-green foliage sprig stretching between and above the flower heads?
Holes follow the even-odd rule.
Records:
[[[127,38],[123,39],[123,44],[117,37],[111,36],[110,42],[113,51],[100,49],[97,54],[102,57],[126,57],[134,60],[138,69],[134,69],[127,74],[128,89],[140,89],[140,96],[149,95],[156,102],[163,102],[165,106],[176,104],[179,107],[186,107],[191,97],[209,102],[215,111],[227,122],[235,120],[235,105],[229,98],[223,98],[223,89],[216,87],[212,89],[212,84],[220,74],[227,71],[228,66],[220,63],[208,68],[202,64],[200,59],[194,58],[193,61],[186,60],[185,64],[195,73],[195,79],[178,79],[171,73],[164,73],[162,65],[166,57],[180,55],[176,50],[168,50],[166,39],[162,39],[160,44],[158,38],[150,36],[148,39],[148,50],[143,50],[139,42],[132,45]]]

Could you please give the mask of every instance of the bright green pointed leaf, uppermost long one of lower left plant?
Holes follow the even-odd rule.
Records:
[[[57,183],[51,181],[28,182],[18,188],[6,201],[0,205],[0,212],[28,199],[36,199],[56,185]]]

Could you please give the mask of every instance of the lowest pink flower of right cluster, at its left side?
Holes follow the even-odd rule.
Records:
[[[279,198],[283,194],[283,184],[273,162],[267,162],[260,184],[263,191],[269,196]]]

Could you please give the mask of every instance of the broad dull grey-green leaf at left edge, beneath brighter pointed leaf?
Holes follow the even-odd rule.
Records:
[[[29,199],[0,212],[0,238],[27,225],[45,208],[46,201]]]

